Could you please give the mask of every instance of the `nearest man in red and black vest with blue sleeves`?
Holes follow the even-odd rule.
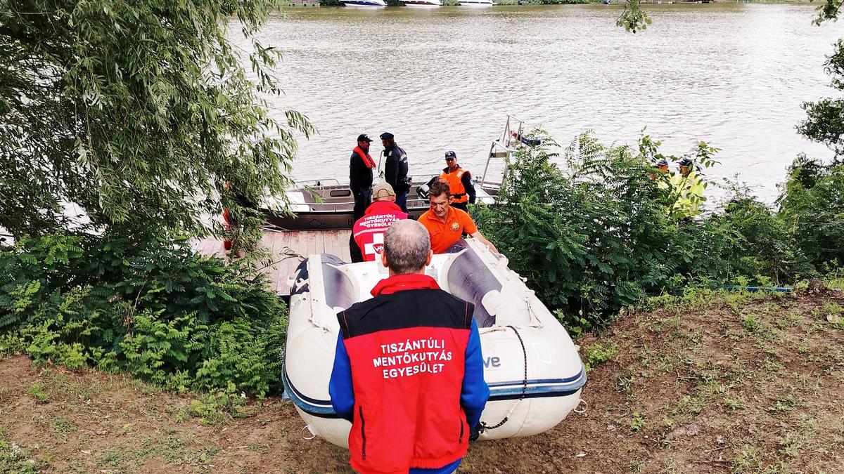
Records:
[[[454,471],[490,396],[474,306],[425,275],[432,255],[422,224],[392,224],[381,252],[390,277],[337,315],[328,393],[352,422],[354,471]]]

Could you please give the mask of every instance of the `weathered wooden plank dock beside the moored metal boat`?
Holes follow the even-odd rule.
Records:
[[[279,296],[288,296],[287,277],[308,256],[325,253],[351,261],[350,233],[350,230],[265,230],[261,246],[272,252],[273,264],[262,272],[270,277],[273,291]],[[198,240],[193,249],[207,256],[230,258],[229,252],[223,248],[223,240]]]

